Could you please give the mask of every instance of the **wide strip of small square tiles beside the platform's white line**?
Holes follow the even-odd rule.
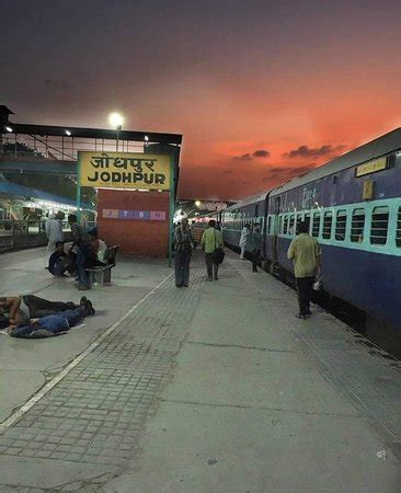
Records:
[[[190,330],[199,262],[190,289],[169,278],[0,436],[0,454],[123,465]]]

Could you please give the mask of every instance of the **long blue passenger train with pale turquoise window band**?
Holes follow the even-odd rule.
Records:
[[[364,314],[364,332],[401,356],[401,128],[222,210],[225,243],[257,225],[262,261],[294,276],[287,250],[299,221],[321,245],[323,295]],[[248,245],[252,254],[252,241]]]

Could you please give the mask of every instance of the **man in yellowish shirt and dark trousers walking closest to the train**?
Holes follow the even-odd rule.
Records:
[[[302,221],[298,226],[298,236],[291,241],[287,257],[293,260],[294,274],[297,282],[299,319],[311,314],[310,300],[312,298],[313,282],[320,275],[321,250],[316,238],[308,234],[308,225]]]

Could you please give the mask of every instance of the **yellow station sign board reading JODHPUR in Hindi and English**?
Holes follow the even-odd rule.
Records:
[[[81,186],[170,190],[170,156],[79,151]]]

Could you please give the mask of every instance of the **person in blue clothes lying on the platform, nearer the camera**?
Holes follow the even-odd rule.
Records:
[[[62,334],[77,325],[85,317],[94,314],[92,302],[87,299],[73,310],[65,310],[39,319],[27,319],[21,312],[16,313],[15,325],[9,326],[11,337],[38,339]]]

